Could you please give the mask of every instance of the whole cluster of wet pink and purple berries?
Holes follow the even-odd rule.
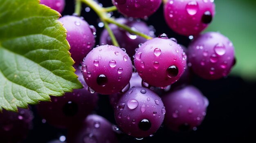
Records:
[[[41,0],[41,3],[60,13],[65,6],[63,0]],[[155,134],[161,125],[177,132],[196,130],[206,116],[209,101],[190,85],[191,76],[220,79],[229,74],[236,61],[234,46],[227,37],[217,32],[200,34],[214,18],[213,0],[164,1],[164,18],[171,30],[187,37],[193,35],[188,48],[164,33],[155,37],[150,26],[133,19],[152,15],[162,0],[112,0],[112,3],[125,16],[116,22],[131,29],[109,25],[121,47],[113,45],[109,29],[101,33],[100,46],[94,47],[94,26],[77,15],[59,19],[67,29],[71,57],[83,88],[63,97],[52,97],[51,102],[41,101],[36,106],[37,112],[47,123],[69,129],[70,143],[117,143],[120,131],[141,139]],[[91,114],[97,107],[98,95],[109,96],[116,125]],[[24,126],[19,128],[24,129],[24,134],[27,132],[31,115],[28,112],[29,115],[23,116],[27,111],[21,111],[19,114],[4,111],[10,119],[0,114],[0,125],[6,127],[0,130],[6,134],[4,139],[12,141],[9,136],[17,134],[16,125],[20,122]],[[17,136],[17,141],[23,138],[23,134]],[[50,143],[55,142],[58,141]]]

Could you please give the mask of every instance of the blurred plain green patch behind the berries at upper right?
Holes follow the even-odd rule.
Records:
[[[235,47],[232,75],[256,81],[256,1],[215,0],[216,15],[207,31],[220,31]]]

